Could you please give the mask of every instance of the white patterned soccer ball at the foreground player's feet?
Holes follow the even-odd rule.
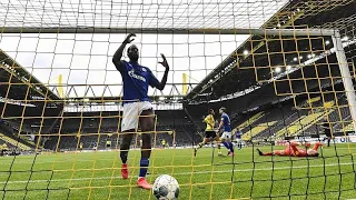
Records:
[[[178,181],[168,174],[159,176],[152,187],[154,196],[158,200],[175,200],[179,196]]]

